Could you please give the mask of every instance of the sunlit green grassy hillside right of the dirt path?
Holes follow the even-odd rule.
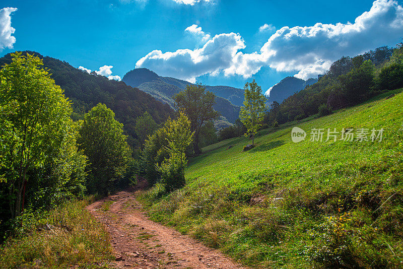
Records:
[[[142,199],[154,220],[244,264],[403,267],[403,94],[388,95],[262,130],[247,152],[245,137],[206,147],[184,188],[159,198],[156,186]],[[305,141],[292,142],[293,126]],[[324,129],[322,142],[310,141],[313,128]],[[337,141],[325,141],[328,128]],[[369,141],[340,140],[342,128],[368,129]],[[382,141],[371,141],[373,128],[384,129]]]

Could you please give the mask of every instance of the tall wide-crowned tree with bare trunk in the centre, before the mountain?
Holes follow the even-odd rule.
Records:
[[[190,130],[194,132],[193,151],[200,154],[199,134],[206,121],[217,119],[220,115],[213,105],[216,96],[201,84],[187,85],[186,89],[174,96],[175,108],[182,110],[190,119]]]

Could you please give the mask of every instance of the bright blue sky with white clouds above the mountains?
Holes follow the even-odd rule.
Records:
[[[13,9],[0,11],[0,54],[34,50],[111,79],[136,66],[208,85],[256,79],[265,91],[286,76],[315,77],[343,55],[394,46],[403,37],[401,5],[2,0],[0,9]]]

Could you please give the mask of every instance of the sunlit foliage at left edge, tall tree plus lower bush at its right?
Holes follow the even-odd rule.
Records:
[[[85,157],[74,145],[70,103],[49,73],[39,67],[41,59],[21,52],[12,57],[0,71],[0,111],[5,113],[1,143],[7,148],[2,151],[0,174],[14,218],[24,210],[25,193],[30,191],[27,182],[46,169],[54,174],[44,179],[44,185],[52,189],[50,194],[63,187],[81,188]]]

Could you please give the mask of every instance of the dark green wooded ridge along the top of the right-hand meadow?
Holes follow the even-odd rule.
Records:
[[[400,52],[399,52],[400,51]],[[343,56],[333,62],[318,81],[286,98],[266,114],[264,123],[280,124],[301,120],[318,113],[322,104],[332,110],[364,102],[383,90],[395,90],[400,84],[401,46],[370,50],[353,58]],[[382,71],[383,70],[383,71]]]

